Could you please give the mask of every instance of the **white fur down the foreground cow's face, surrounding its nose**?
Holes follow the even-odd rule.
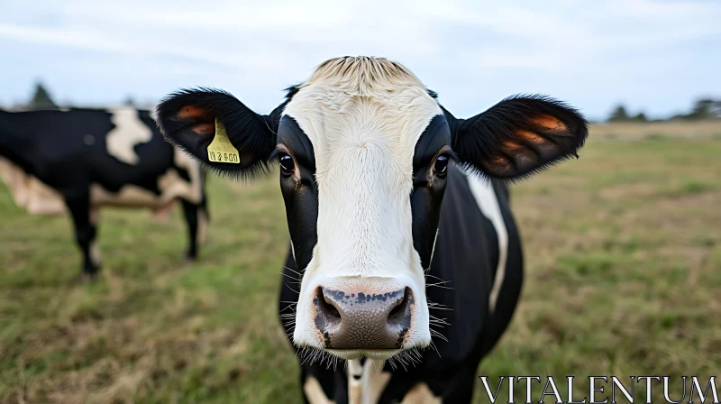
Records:
[[[313,144],[318,187],[318,242],[301,284],[296,344],[322,346],[312,321],[319,285],[367,293],[410,287],[415,304],[403,347],[431,340],[409,196],[415,143],[443,111],[410,73],[372,69],[345,81],[316,71],[284,112]]]

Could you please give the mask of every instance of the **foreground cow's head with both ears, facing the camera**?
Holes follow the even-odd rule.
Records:
[[[158,117],[215,170],[248,175],[278,161],[303,273],[293,340],[342,358],[430,344],[424,269],[450,161],[519,179],[574,156],[587,135],[577,111],[543,96],[456,119],[406,68],[365,57],[324,62],[270,115],[201,88],[170,95]],[[216,123],[240,163],[208,159]]]

